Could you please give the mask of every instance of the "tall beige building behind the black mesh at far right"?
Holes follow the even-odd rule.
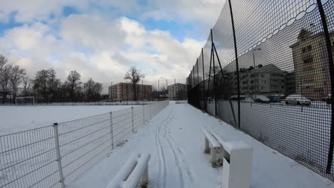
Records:
[[[334,33],[330,33],[332,50]],[[330,92],[330,71],[325,36],[305,29],[298,35],[298,42],[290,46],[293,50],[296,93],[319,100]]]

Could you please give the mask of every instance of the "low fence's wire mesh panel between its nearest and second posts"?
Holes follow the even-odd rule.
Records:
[[[65,182],[88,169],[111,150],[110,114],[59,124],[59,147]]]

